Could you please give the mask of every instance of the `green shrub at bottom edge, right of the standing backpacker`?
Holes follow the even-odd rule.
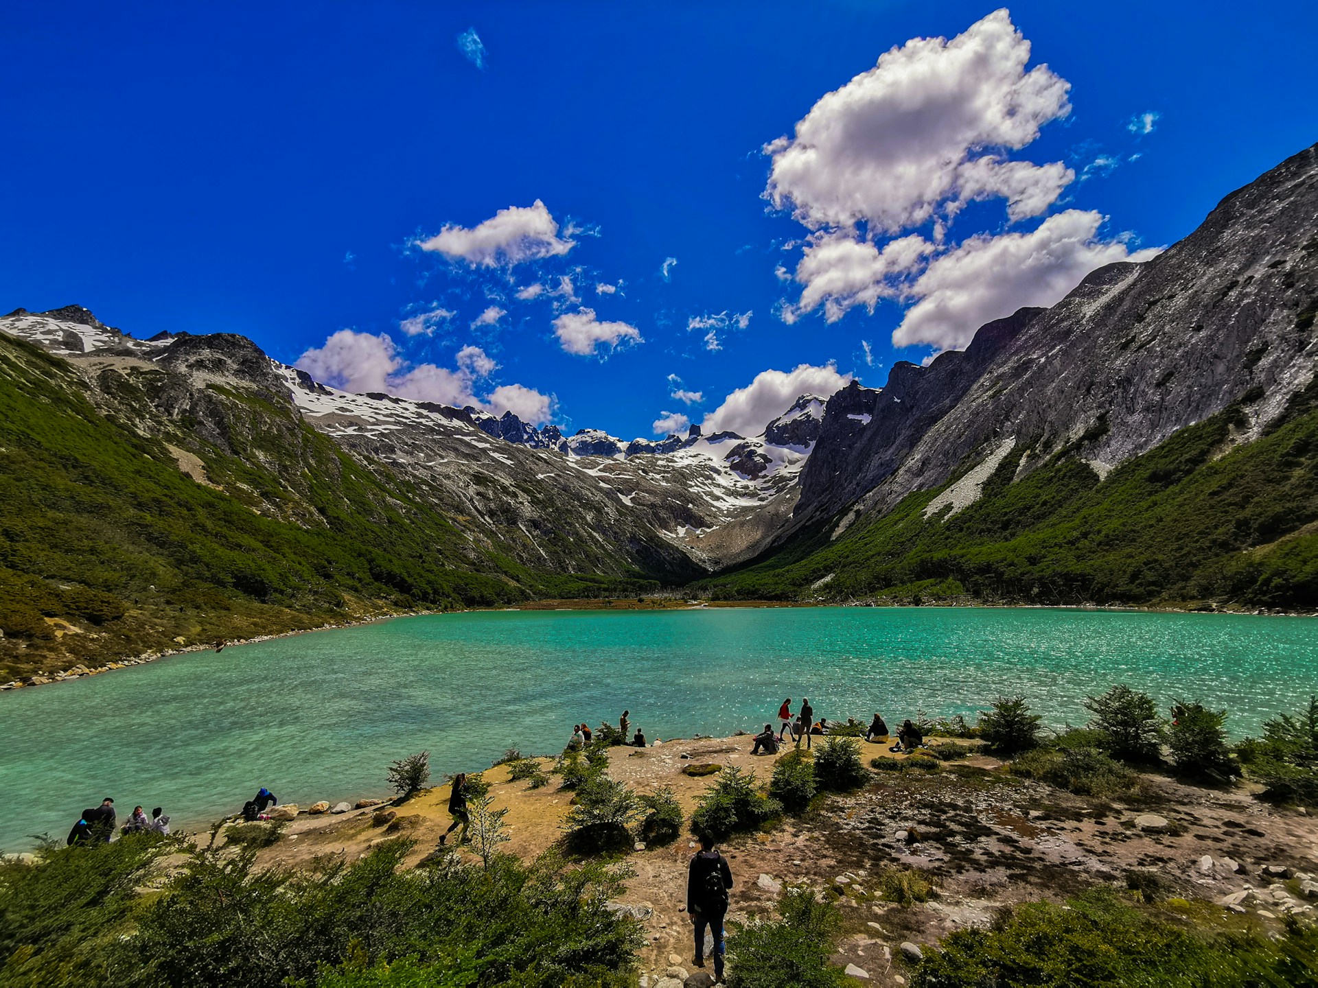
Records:
[[[840,988],[842,971],[830,967],[842,918],[816,902],[809,889],[788,889],[778,901],[779,919],[729,923],[728,988]]]

